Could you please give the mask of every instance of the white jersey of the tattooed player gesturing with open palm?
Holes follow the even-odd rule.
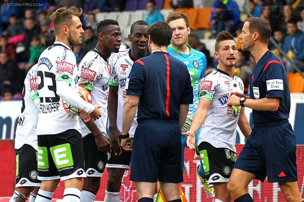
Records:
[[[240,77],[216,69],[200,83],[199,96],[212,99],[207,117],[198,137],[198,145],[205,141],[216,148],[227,148],[236,152],[236,125],[240,116],[237,111],[226,105],[230,91],[244,93],[244,83]]]

